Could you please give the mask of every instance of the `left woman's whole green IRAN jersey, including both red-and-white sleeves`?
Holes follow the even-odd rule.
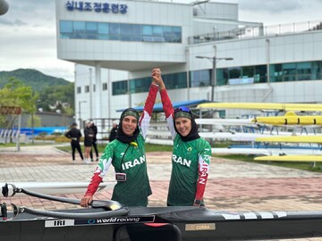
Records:
[[[153,84],[150,86],[144,110],[140,115],[138,123],[140,134],[135,139],[135,144],[129,145],[115,139],[106,146],[90,179],[85,196],[95,194],[112,164],[115,172],[120,173],[121,177],[124,178],[124,175],[126,175],[125,181],[117,180],[112,199],[127,206],[148,205],[148,195],[151,195],[151,188],[148,183],[144,144],[148,134],[153,105],[156,102],[157,89],[158,87]]]

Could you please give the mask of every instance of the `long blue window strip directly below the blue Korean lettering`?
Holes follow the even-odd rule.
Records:
[[[96,21],[60,21],[60,37],[182,43],[182,27]]]

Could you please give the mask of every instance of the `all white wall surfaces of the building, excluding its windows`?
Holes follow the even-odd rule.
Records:
[[[93,117],[98,117],[96,106],[89,106],[89,93],[84,93],[84,87],[89,85],[89,68],[92,69],[92,74],[95,73],[95,69],[90,65],[94,66],[97,62],[102,66],[101,83],[108,83],[106,91],[93,94],[100,95],[99,117],[118,119],[120,112],[116,110],[144,104],[148,93],[112,96],[113,81],[147,77],[156,67],[161,67],[164,74],[212,69],[211,61],[197,59],[197,55],[233,58],[233,61],[217,62],[217,68],[322,60],[322,48],[320,47],[322,31],[318,30],[188,45],[188,37],[195,33],[204,33],[213,27],[213,19],[237,20],[236,4],[207,6],[206,16],[212,20],[204,24],[204,29],[202,29],[201,25],[193,19],[193,6],[190,4],[124,1],[129,6],[127,14],[102,15],[96,12],[67,12],[64,9],[65,1],[56,0],[56,3],[57,23],[59,20],[77,20],[182,26],[182,44],[60,39],[58,37],[58,58],[88,64],[87,66],[78,64],[75,68],[75,86],[81,87],[81,94],[76,94],[75,100],[77,119],[79,114],[83,120],[84,117],[89,118],[90,109]],[[220,24],[223,23],[219,22],[217,26]],[[229,28],[233,26],[232,23]],[[57,36],[59,36],[58,28]],[[141,68],[133,68],[132,65],[138,62]],[[108,71],[106,68],[127,69],[130,72]],[[95,77],[93,76],[92,79],[94,83]],[[192,87],[168,92],[174,102],[210,99],[211,87]],[[215,99],[220,102],[322,103],[322,80],[216,87]],[[157,96],[157,102],[159,101],[159,96]],[[226,113],[228,117],[236,117],[243,112],[228,110]]]

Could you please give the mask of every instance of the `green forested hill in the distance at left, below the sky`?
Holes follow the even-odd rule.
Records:
[[[20,79],[26,86],[41,92],[47,87],[67,86],[71,82],[48,76],[40,71],[31,69],[18,69],[15,71],[0,71],[0,88],[3,88],[10,78]]]

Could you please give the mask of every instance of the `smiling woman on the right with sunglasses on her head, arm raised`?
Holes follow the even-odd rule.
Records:
[[[152,75],[152,78],[159,85],[165,118],[174,140],[167,205],[204,205],[211,146],[199,137],[191,110],[185,106],[174,109],[161,78],[161,71]]]

